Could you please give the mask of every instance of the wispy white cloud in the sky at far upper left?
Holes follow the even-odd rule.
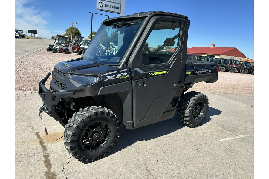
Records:
[[[26,33],[28,29],[37,30],[37,35],[43,38],[51,38],[52,32],[48,30],[48,21],[44,17],[50,16],[50,12],[41,11],[39,2],[35,0],[15,1],[15,28]]]

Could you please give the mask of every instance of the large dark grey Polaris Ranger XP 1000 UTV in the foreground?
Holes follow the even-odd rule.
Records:
[[[115,145],[120,126],[135,129],[173,118],[197,127],[209,102],[195,83],[218,79],[218,63],[186,60],[187,16],[143,12],[103,21],[81,58],[56,64],[39,82],[39,109],[65,128],[69,154],[89,163]],[[117,37],[117,38],[112,38]],[[100,53],[100,43],[117,43],[117,53]],[[167,47],[175,48],[167,53]],[[170,48],[171,48],[170,47]]]

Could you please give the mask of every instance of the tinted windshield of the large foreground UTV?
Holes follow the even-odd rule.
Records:
[[[142,22],[139,19],[101,25],[83,58],[108,65],[120,64]]]

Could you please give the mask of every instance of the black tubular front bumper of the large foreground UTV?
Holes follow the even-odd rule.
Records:
[[[48,90],[45,87],[45,83],[48,80],[51,73],[48,73],[44,79],[40,80],[38,94],[42,99],[43,103],[46,105],[48,110],[52,115],[59,121],[62,126],[65,126],[65,123],[62,121],[62,118],[56,113],[56,105],[59,104],[60,99],[64,96],[74,96],[76,92],[74,91],[66,91],[66,92],[56,92],[54,90]]]

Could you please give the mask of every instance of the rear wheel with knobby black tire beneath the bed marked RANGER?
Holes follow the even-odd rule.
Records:
[[[190,91],[178,102],[178,119],[189,127],[198,127],[206,118],[209,102],[206,95]]]

